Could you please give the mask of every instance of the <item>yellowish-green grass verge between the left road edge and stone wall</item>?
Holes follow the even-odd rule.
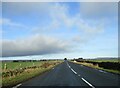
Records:
[[[61,62],[60,62],[61,63]],[[60,64],[52,64],[47,68],[35,68],[35,69],[26,69],[24,72],[22,72],[21,74],[18,74],[16,76],[12,76],[12,77],[3,77],[2,78],[2,87],[12,87],[14,85],[17,85],[23,81],[29,80],[35,76],[38,76],[46,71],[49,71],[51,68],[53,68],[54,66]]]

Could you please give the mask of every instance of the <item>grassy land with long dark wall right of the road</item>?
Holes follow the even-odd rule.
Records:
[[[77,64],[100,69],[115,74],[120,74],[120,62],[119,59],[81,59],[72,61]]]

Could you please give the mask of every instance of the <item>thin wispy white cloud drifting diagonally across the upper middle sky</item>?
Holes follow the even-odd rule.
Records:
[[[49,6],[48,6],[49,7]],[[50,24],[41,28],[43,30],[56,30],[63,27],[65,30],[75,30],[72,29],[76,27],[77,30],[84,31],[86,33],[94,34],[101,32],[104,22],[103,20],[93,21],[93,20],[86,20],[82,18],[81,13],[78,11],[77,14],[74,16],[69,15],[69,6],[60,3],[54,3],[52,6],[49,7],[48,14],[52,18]],[[72,10],[72,9],[70,9]],[[88,22],[89,21],[89,22]],[[35,30],[40,30],[40,28],[36,28]]]

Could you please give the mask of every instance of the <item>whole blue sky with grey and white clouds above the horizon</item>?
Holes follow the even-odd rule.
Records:
[[[3,59],[118,56],[117,2],[2,2],[1,6]]]

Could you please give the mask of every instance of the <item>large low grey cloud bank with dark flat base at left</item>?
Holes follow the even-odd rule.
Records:
[[[2,56],[43,55],[68,50],[68,44],[52,37],[34,35],[25,39],[3,40]]]

